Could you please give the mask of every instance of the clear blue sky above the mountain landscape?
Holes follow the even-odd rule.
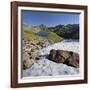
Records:
[[[29,26],[37,26],[40,24],[44,24],[46,26],[79,24],[79,14],[22,10],[21,15],[23,23],[26,23]]]

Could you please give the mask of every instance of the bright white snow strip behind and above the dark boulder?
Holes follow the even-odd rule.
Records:
[[[51,49],[60,49],[60,50],[67,50],[67,51],[73,51],[76,53],[79,53],[79,42],[59,42],[52,44],[48,46],[47,48],[44,48],[40,51],[41,55],[47,55],[49,54],[49,51]]]

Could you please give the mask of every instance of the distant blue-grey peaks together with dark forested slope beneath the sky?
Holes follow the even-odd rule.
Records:
[[[34,26],[40,31],[53,32],[64,39],[79,39],[79,24],[56,25],[54,27],[47,27],[44,24]]]

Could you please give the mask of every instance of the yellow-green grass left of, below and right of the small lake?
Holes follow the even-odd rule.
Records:
[[[59,42],[59,41],[63,40],[62,37],[58,36],[54,32],[50,32],[50,31],[48,31],[48,36],[46,36],[46,37],[38,36],[35,33],[42,31],[39,28],[31,28],[31,27],[23,25],[23,30],[24,30],[23,36],[24,36],[24,39],[26,39],[26,40],[31,40],[31,39],[42,40],[44,38],[52,40],[54,42]]]

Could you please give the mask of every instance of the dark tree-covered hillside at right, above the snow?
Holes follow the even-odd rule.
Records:
[[[65,39],[79,39],[79,24],[57,25],[48,29]]]

